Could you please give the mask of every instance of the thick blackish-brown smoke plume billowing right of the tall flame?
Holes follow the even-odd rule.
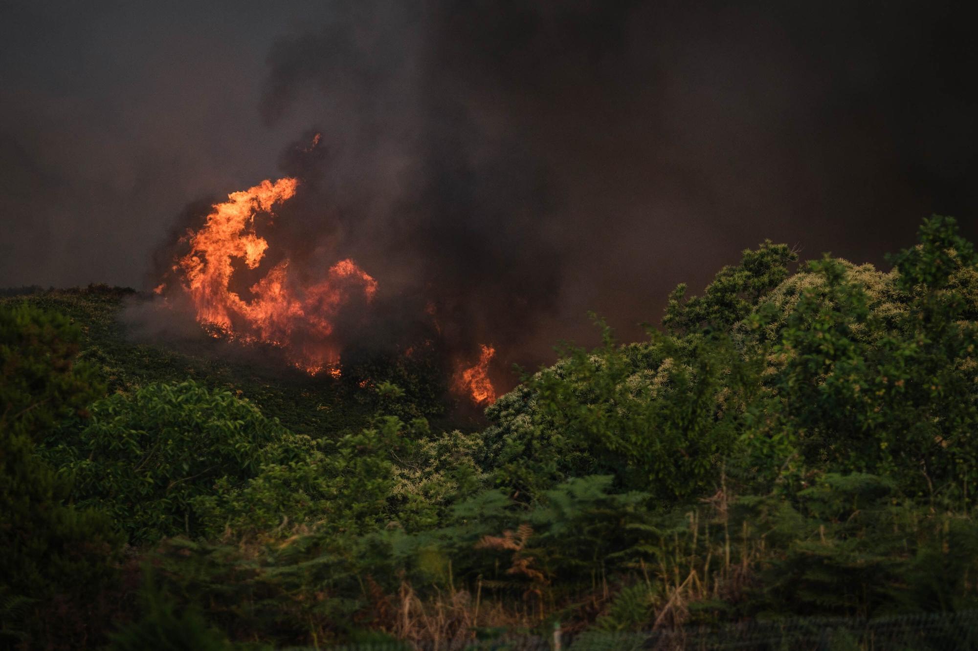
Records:
[[[974,234],[963,23],[856,5],[337,3],[268,59],[265,119],[316,107],[327,152],[285,160],[316,184],[296,241],[513,361],[590,308],[656,321],[677,268],[766,237],[881,262],[931,212]]]

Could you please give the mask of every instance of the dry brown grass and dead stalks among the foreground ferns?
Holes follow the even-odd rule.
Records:
[[[608,612],[618,588],[635,583],[648,586],[649,612],[644,629],[682,629],[689,621],[689,606],[714,599],[736,600],[750,582],[753,569],[763,554],[763,542],[751,535],[747,525],[731,531],[725,487],[702,500],[702,506],[687,514],[689,531],[662,541],[663,553],[652,563],[640,561],[634,576],[610,586],[605,577],[585,593],[564,595],[556,601],[548,592],[551,582],[538,569],[529,542],[533,530],[522,525],[501,536],[486,536],[476,548],[511,551],[511,564],[505,571],[521,580],[521,599],[504,599],[501,582],[478,580],[471,591],[454,586],[422,597],[403,582],[394,594],[384,594],[373,581],[368,582],[375,626],[412,643],[418,648],[463,648],[474,638],[476,629],[533,629],[560,614],[567,621],[568,633],[587,629]],[[710,531],[722,535],[710,538]],[[671,543],[671,544],[670,544]],[[511,590],[514,584],[506,586]],[[573,614],[567,618],[568,608]]]

